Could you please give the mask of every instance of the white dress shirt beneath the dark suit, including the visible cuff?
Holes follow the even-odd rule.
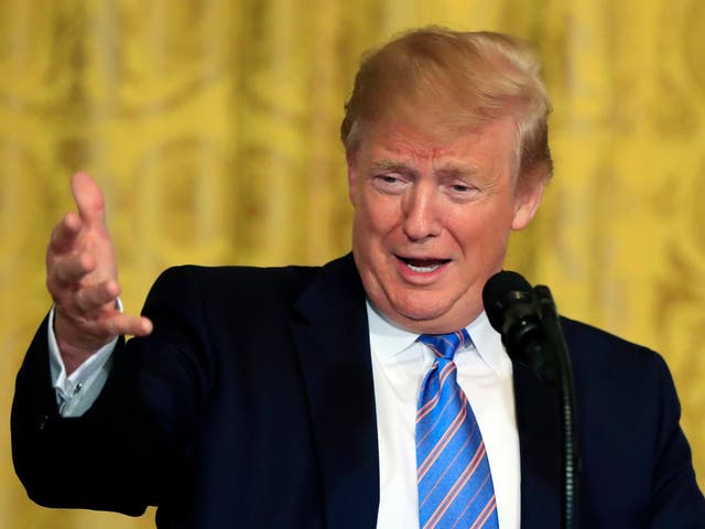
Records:
[[[380,504],[377,529],[417,529],[415,418],[421,382],[433,353],[368,303],[379,444]],[[48,322],[50,366],[62,417],[79,417],[100,395],[116,341],[102,347],[70,376]],[[458,384],[480,427],[492,473],[500,529],[519,529],[519,435],[514,415],[512,367],[500,336],[482,313],[468,325],[474,346],[455,355]]]

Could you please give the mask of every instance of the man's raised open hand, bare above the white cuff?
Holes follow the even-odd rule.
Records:
[[[100,187],[83,173],[74,175],[70,186],[78,212],[67,213],[54,227],[46,250],[54,334],[67,374],[120,334],[152,332],[149,319],[117,309],[118,267]]]

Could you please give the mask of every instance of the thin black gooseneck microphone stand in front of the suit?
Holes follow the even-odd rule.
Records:
[[[558,321],[558,313],[547,287],[539,284],[533,288],[533,301],[543,323],[547,346],[553,350],[557,367],[557,384],[561,397],[561,429],[563,433],[563,489],[561,494],[561,527],[577,529],[577,488],[581,472],[575,422],[575,391],[573,387],[573,368],[568,349]]]

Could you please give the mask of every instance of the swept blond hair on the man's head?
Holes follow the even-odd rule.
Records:
[[[429,119],[457,129],[511,116],[520,181],[547,180],[551,111],[540,64],[527,43],[495,32],[413,30],[368,52],[345,105],[340,139],[355,151],[365,123]]]

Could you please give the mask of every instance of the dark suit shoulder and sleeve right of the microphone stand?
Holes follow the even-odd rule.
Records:
[[[584,323],[562,319],[562,325],[573,360],[585,496],[592,498],[586,525],[648,508],[639,512],[650,527],[702,527],[703,496],[663,358]]]

